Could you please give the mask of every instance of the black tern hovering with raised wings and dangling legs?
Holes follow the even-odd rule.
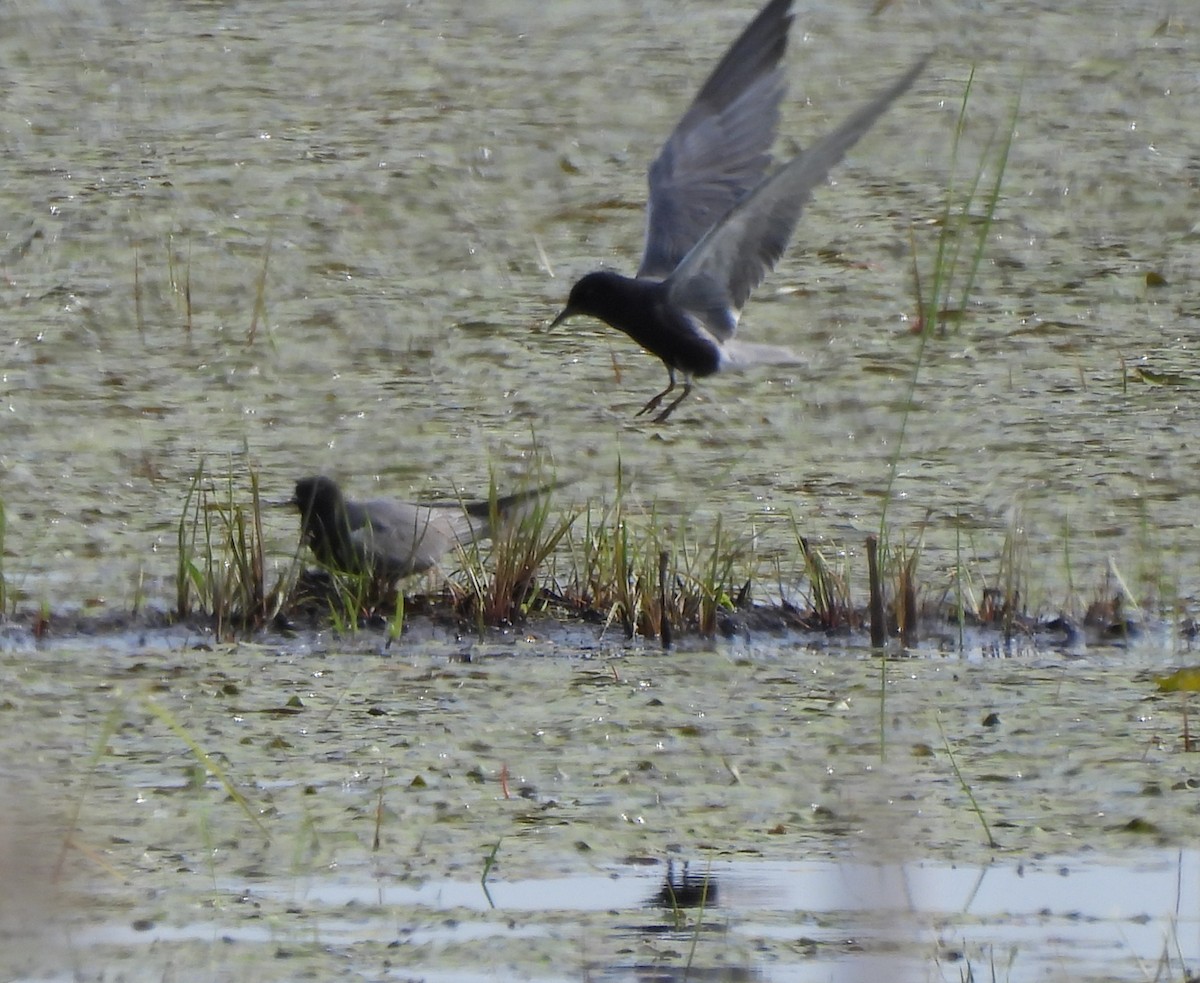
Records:
[[[683,374],[683,391],[654,418],[662,422],[695,377],[755,364],[800,361],[788,348],[733,337],[750,292],[775,266],[812,188],[917,79],[919,59],[833,133],[767,176],[784,97],[780,60],[792,0],[770,0],[725,53],[658,160],[650,164],[646,250],[637,276],[592,272],[571,288],[551,328],[574,314],[599,318],[667,366],[670,384],[638,416],[659,407]]]

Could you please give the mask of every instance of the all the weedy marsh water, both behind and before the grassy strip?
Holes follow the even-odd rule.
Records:
[[[636,268],[647,162],[752,5],[0,10],[10,606],[168,607],[202,466],[454,499],[542,457],[564,508],[619,472],[668,522],[752,534],[785,595],[797,532],[860,569],[886,511],[931,592],[1016,543],[1042,610],[1166,612],[1120,646],[882,663],[13,628],[6,978],[1194,970],[1196,768],[1154,687],[1198,592],[1194,18],[870,6],[797,5],[781,155],[937,54],[746,308],[809,362],[701,380],[660,427],[634,418],[656,360],[545,328],[576,276]],[[914,257],[928,290],[947,188],[980,175],[978,228],[1009,134],[970,296],[922,342]],[[266,532],[292,563],[294,516]],[[703,907],[662,903],[668,862]]]

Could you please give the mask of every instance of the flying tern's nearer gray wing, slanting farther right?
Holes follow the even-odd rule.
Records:
[[[692,312],[716,337],[728,338],[750,292],[787,248],[812,188],[916,82],[929,59],[929,54],[919,59],[833,133],[793,157],[733,208],[667,277],[671,302]]]

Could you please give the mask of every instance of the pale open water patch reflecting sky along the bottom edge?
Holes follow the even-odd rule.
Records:
[[[319,925],[335,947],[373,941],[444,954],[518,939],[534,946],[569,927],[590,940],[588,978],[607,981],[683,978],[689,964],[689,979],[866,979],[884,965],[888,978],[926,979],[931,964],[958,978],[959,969],[978,972],[991,960],[1010,981],[1040,979],[1064,964],[1084,979],[1200,960],[1200,851],[986,867],[706,859],[488,887],[494,910],[478,881],[396,883],[348,869],[302,885],[263,883],[252,894],[284,904],[304,925],[298,931]],[[664,907],[688,917],[664,923]],[[145,945],[208,930],[114,924],[89,941]],[[282,930],[251,922],[222,934],[262,941]],[[598,951],[608,955],[596,959]],[[431,958],[428,978],[437,978]]]

